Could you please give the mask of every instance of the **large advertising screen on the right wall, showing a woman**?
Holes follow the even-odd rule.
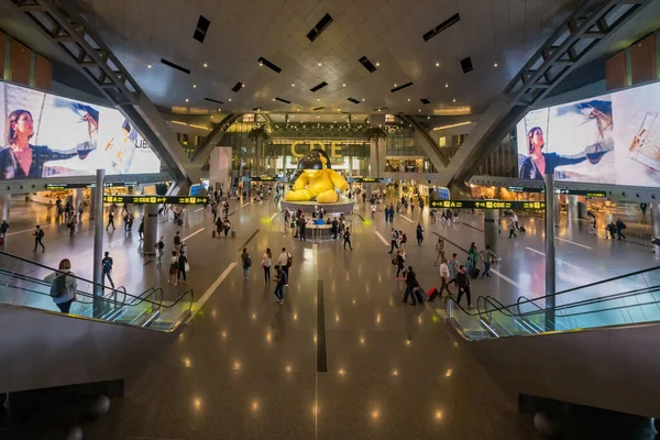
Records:
[[[660,84],[530,111],[516,130],[519,177],[660,186]]]

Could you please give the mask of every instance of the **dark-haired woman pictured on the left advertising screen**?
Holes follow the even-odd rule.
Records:
[[[28,110],[14,110],[7,118],[7,148],[0,151],[0,179],[41,178],[44,163],[69,158],[76,153],[56,153],[45,145],[32,145],[34,121]]]

